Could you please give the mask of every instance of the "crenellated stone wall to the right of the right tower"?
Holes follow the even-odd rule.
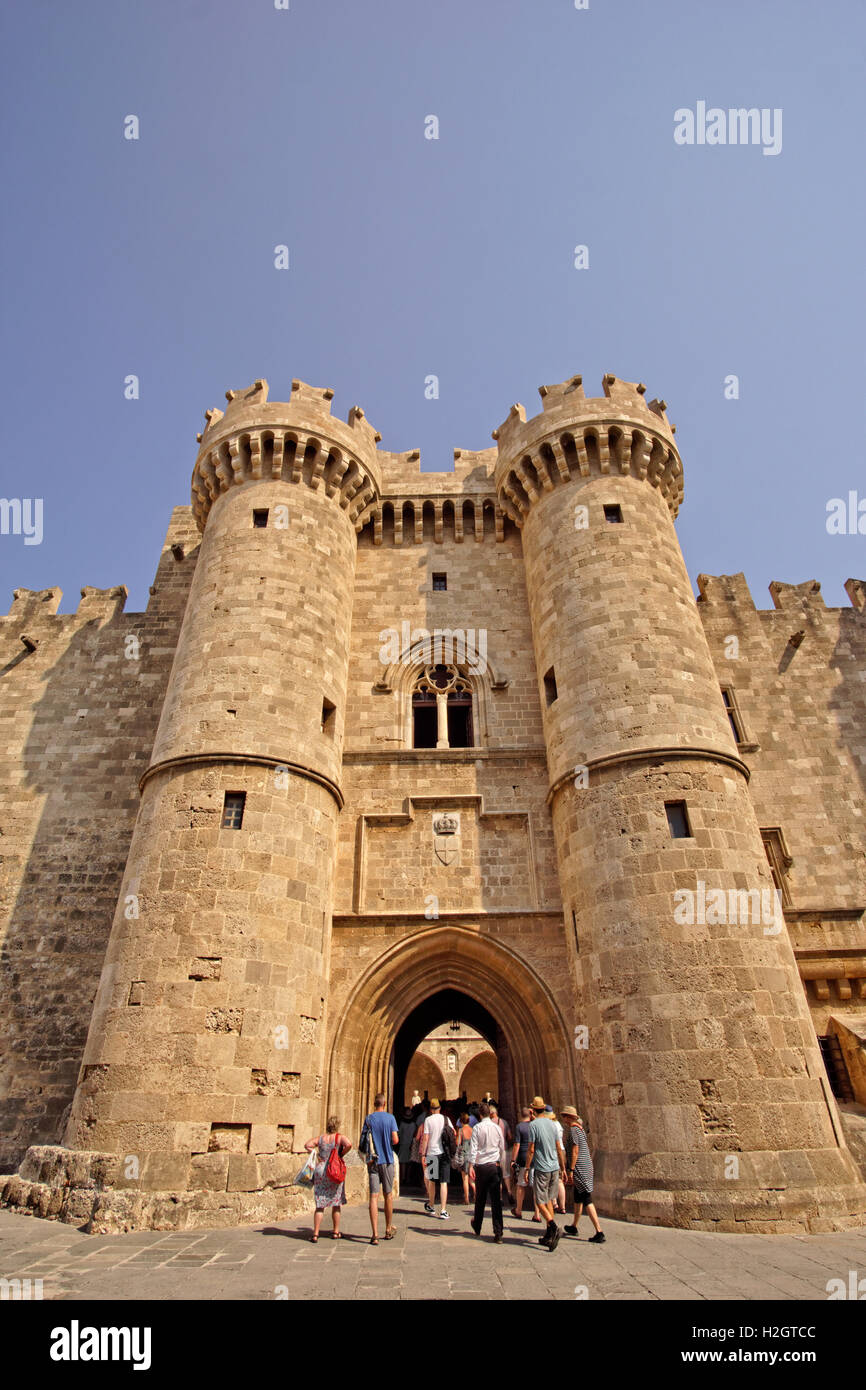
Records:
[[[698,610],[720,685],[734,692],[762,827],[788,853],[787,930],[817,1033],[866,1016],[866,612],[828,609],[815,581],[699,575]]]

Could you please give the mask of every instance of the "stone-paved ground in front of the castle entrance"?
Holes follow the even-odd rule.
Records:
[[[489,1213],[481,1238],[470,1212],[427,1216],[396,1202],[396,1236],[370,1245],[364,1208],[343,1211],[343,1240],[310,1220],[229,1230],[85,1236],[72,1226],[0,1211],[0,1279],[42,1279],[43,1298],[570,1298],[826,1300],[827,1280],[866,1275],[866,1227],[827,1236],[713,1236],[605,1222],[606,1244],[562,1237],[506,1216],[500,1245]],[[563,1220],[563,1218],[560,1218]],[[581,1287],[585,1294],[581,1294]]]

